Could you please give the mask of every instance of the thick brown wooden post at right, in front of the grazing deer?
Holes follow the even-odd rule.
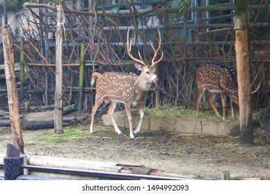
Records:
[[[251,111],[251,78],[248,55],[248,3],[235,1],[235,50],[239,93],[240,143],[254,143]]]

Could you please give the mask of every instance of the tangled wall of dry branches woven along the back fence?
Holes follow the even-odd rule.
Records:
[[[163,3],[165,3],[164,1]],[[251,9],[257,11],[257,15],[260,14],[260,10],[268,9],[265,6],[265,2],[260,6],[250,5]],[[27,4],[27,7],[31,7]],[[39,8],[40,4],[35,5]],[[42,5],[43,6],[43,5]],[[44,5],[46,6],[48,5]],[[162,4],[150,9],[150,10],[136,10],[132,3],[126,4],[129,10],[119,10],[116,12],[107,12],[105,8],[102,8],[101,12],[97,12],[95,9],[93,12],[80,12],[79,10],[64,10],[65,11],[65,47],[63,60],[65,61],[63,66],[69,64],[74,64],[63,69],[63,87],[69,88],[68,95],[65,93],[63,96],[63,101],[67,104],[77,103],[77,93],[72,93],[73,89],[79,86],[79,60],[81,55],[78,52],[79,44],[78,42],[86,42],[86,67],[84,75],[84,88],[88,91],[90,88],[90,76],[93,71],[98,71],[103,73],[105,71],[121,71],[121,72],[133,72],[138,73],[132,62],[129,64],[123,62],[129,60],[127,54],[125,53],[125,39],[126,39],[126,29],[131,28],[133,30],[132,42],[136,42],[135,46],[132,46],[132,53],[136,55],[138,51],[143,53],[143,58],[145,60],[151,60],[152,53],[148,52],[150,40],[153,41],[154,36],[157,35],[157,30],[155,28],[162,28],[163,41],[162,50],[164,51],[164,60],[159,64],[159,87],[161,90],[161,103],[172,104],[172,105],[195,105],[197,98],[197,85],[195,72],[198,67],[202,66],[206,62],[221,62],[232,66],[235,68],[235,35],[232,32],[232,21],[229,22],[219,22],[215,24],[205,24],[205,21],[200,21],[197,18],[198,24],[181,24],[182,12],[179,12],[178,8],[166,8],[160,9]],[[168,6],[168,5],[167,5]],[[52,8],[53,7],[53,8]],[[95,6],[94,6],[95,7]],[[32,7],[33,8],[33,7]],[[52,8],[56,10],[54,6],[47,8]],[[133,8],[133,9],[132,9]],[[206,10],[233,10],[234,6],[217,6],[217,7],[200,7],[200,8],[186,8],[186,12],[198,12]],[[26,9],[28,10],[28,9]],[[154,26],[154,28],[148,28],[148,26],[143,26],[143,29],[138,25],[138,21],[143,21],[143,25],[146,24],[148,12],[152,12],[159,19],[161,19],[161,25]],[[77,15],[83,13],[83,15]],[[125,15],[128,13],[127,15]],[[26,21],[29,24],[29,29],[24,32],[24,35],[29,37],[35,47],[39,49],[39,53],[42,53],[42,37],[44,33],[49,33],[49,35],[54,35],[56,19],[54,17],[54,12],[47,13],[42,12],[50,20],[47,24],[47,28],[43,29],[37,28],[41,23],[38,15],[34,15],[33,18],[27,17]],[[111,15],[109,15],[111,14]],[[141,17],[141,16],[145,17]],[[198,14],[199,15],[199,14]],[[251,79],[254,80],[254,85],[259,85],[260,80],[262,84],[258,93],[254,94],[253,102],[254,104],[266,104],[266,99],[269,98],[269,68],[267,64],[270,60],[269,47],[269,17],[264,19],[264,21],[256,21],[258,17],[255,17],[255,21],[251,22],[251,31],[249,35],[249,42],[251,43]],[[49,17],[50,16],[50,17]],[[91,17],[89,17],[91,16]],[[195,15],[197,16],[197,15]],[[104,19],[108,18],[108,21]],[[232,17],[232,16],[231,16]],[[193,18],[195,19],[195,18]],[[173,25],[172,25],[173,24]],[[176,24],[176,25],[175,25]],[[179,24],[179,25],[178,25]],[[74,26],[72,26],[74,25]],[[230,27],[229,30],[225,30],[224,39],[216,41],[220,38],[219,35],[222,33],[223,27]],[[194,28],[195,39],[183,39],[182,30],[186,28]],[[210,28],[208,31],[207,28]],[[32,31],[31,31],[32,30]],[[262,30],[262,31],[260,31]],[[34,33],[33,33],[34,32]],[[263,34],[260,36],[260,34]],[[49,39],[49,46],[54,45],[53,39]],[[111,44],[113,42],[113,44]],[[119,42],[119,45],[115,44]],[[137,45],[137,42],[140,42]],[[70,46],[70,47],[69,47]],[[29,46],[26,49],[26,68],[29,72],[30,84],[27,85],[29,90],[40,90],[40,91],[54,91],[55,86],[55,50],[51,46],[48,52],[48,63],[45,65],[40,64],[42,57],[37,53],[35,48]],[[137,56],[136,56],[137,57]],[[264,70],[258,71],[261,64],[265,63]],[[33,64],[33,65],[32,65]],[[90,66],[89,64],[92,64]],[[127,65],[126,65],[127,64]],[[260,73],[255,73],[260,72]],[[256,78],[256,79],[255,79]],[[45,82],[45,80],[47,80]],[[154,106],[155,96],[154,93],[148,95],[145,100],[146,105]],[[29,97],[33,100],[38,99],[38,94],[31,94]],[[48,103],[54,103],[54,96],[48,92]],[[89,92],[84,93],[84,107],[87,111],[88,104],[92,98],[92,94]]]

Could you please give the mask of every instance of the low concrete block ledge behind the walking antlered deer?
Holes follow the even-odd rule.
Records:
[[[113,118],[118,127],[129,128],[127,114],[125,112],[115,112]],[[138,125],[139,116],[132,117],[132,127],[135,129]],[[102,116],[104,125],[111,125],[109,116]],[[186,118],[163,118],[148,117],[143,118],[141,130],[168,130],[180,133],[190,134],[213,134],[213,135],[239,135],[238,121],[212,121],[212,120],[189,120]]]

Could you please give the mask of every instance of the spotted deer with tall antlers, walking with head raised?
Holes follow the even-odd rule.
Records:
[[[114,129],[118,134],[122,134],[116,125],[116,121],[113,118],[113,112],[116,109],[117,103],[123,103],[125,105],[125,110],[127,113],[127,118],[129,121],[129,136],[130,139],[134,139],[134,134],[140,132],[141,124],[143,122],[143,100],[150,90],[152,82],[157,81],[157,74],[155,65],[158,64],[163,58],[164,53],[162,52],[161,58],[155,61],[157,58],[157,53],[159,48],[161,47],[161,35],[159,33],[159,46],[157,50],[150,42],[152,49],[154,50],[154,57],[152,58],[152,64],[148,65],[141,58],[141,54],[138,53],[140,60],[134,58],[131,53],[132,43],[129,43],[129,30],[127,30],[127,54],[132,60],[138,62],[135,63],[135,67],[141,71],[140,76],[136,76],[133,73],[116,73],[116,72],[106,72],[103,74],[93,73],[92,76],[92,85],[95,82],[95,78],[97,78],[96,83],[96,96],[95,96],[95,105],[93,105],[92,110],[92,120],[90,124],[90,133],[93,133],[93,122],[95,112],[97,108],[100,107],[101,103],[106,100],[109,101],[109,109],[108,115],[111,119],[111,123],[113,124]],[[130,106],[136,106],[138,108],[138,112],[140,114],[140,120],[138,122],[138,126],[136,130],[133,132],[132,130],[132,113],[130,111]]]

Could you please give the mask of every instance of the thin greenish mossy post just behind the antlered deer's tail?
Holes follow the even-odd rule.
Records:
[[[79,71],[79,102],[78,102],[78,112],[81,112],[83,107],[83,90],[84,90],[84,50],[86,48],[86,44],[81,42],[81,64]]]

